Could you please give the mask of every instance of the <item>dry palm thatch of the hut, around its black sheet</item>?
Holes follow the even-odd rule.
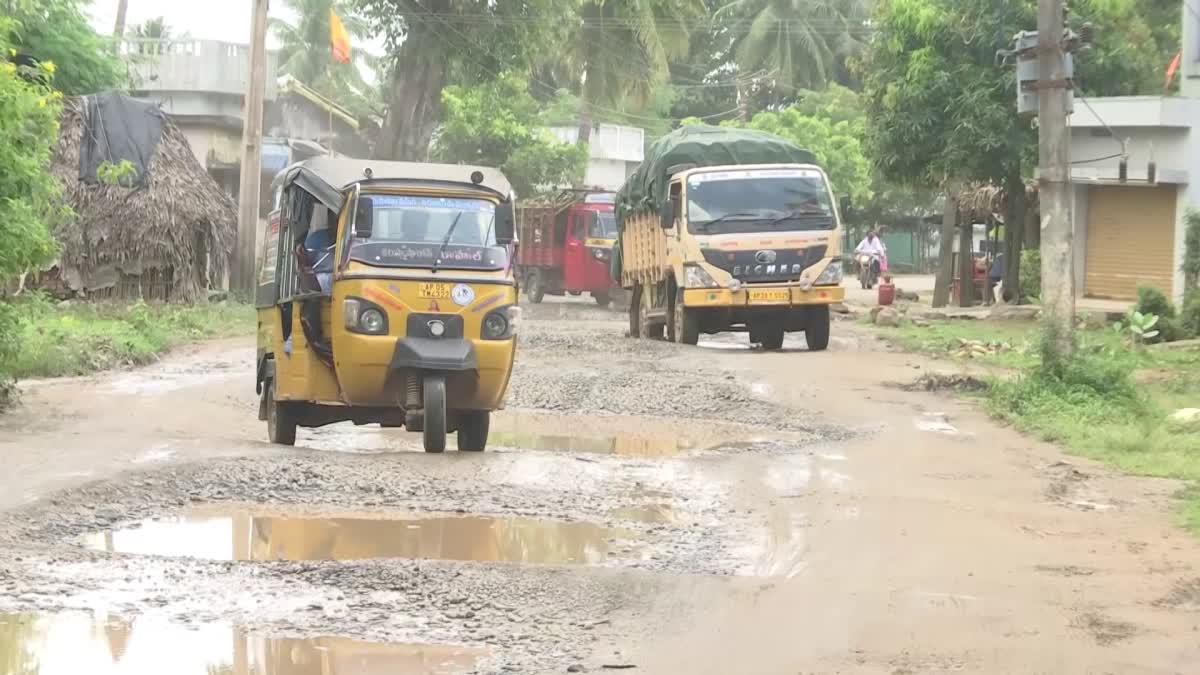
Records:
[[[55,237],[62,275],[84,292],[196,300],[229,264],[238,215],[187,138],[164,120],[142,187],[79,180],[86,126],[82,98],[65,102],[53,173],[74,211]]]

